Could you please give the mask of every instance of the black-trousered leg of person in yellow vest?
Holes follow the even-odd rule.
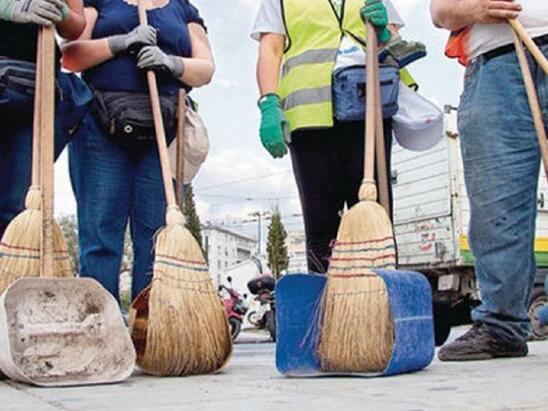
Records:
[[[325,273],[344,206],[333,129],[294,133],[290,146],[306,232],[308,269]]]

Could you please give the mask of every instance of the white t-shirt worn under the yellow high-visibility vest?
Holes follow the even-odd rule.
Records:
[[[336,10],[340,10],[342,0],[326,0],[331,1]],[[548,0],[545,0],[548,1]],[[390,24],[394,24],[399,28],[404,26],[404,22],[394,5],[390,0],[384,0],[384,4],[388,9],[388,20]],[[255,25],[251,32],[251,38],[259,41],[261,35],[265,33],[281,34],[286,36],[284,19],[282,14],[281,0],[263,0]],[[355,64],[365,63],[365,53],[362,47],[356,43],[354,39],[348,36],[343,36],[339,46],[339,53],[335,70],[340,67],[352,66]]]

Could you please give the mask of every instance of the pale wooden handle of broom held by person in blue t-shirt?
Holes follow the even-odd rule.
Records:
[[[141,25],[147,25],[147,12],[144,0],[138,0],[137,8],[139,10],[139,22]],[[150,94],[150,103],[152,105],[152,116],[154,119],[154,130],[156,132],[156,143],[158,144],[158,153],[160,154],[160,165],[162,168],[162,178],[164,180],[164,190],[168,208],[177,207],[175,198],[175,188],[173,187],[173,176],[169,166],[169,154],[167,150],[166,131],[164,120],[162,118],[162,109],[160,106],[160,95],[158,93],[158,84],[156,82],[156,73],[154,70],[147,71],[148,90]]]

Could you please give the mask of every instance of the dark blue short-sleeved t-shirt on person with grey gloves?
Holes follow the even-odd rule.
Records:
[[[92,38],[129,33],[139,25],[137,6],[124,0],[85,0],[85,7],[98,12]],[[166,54],[191,57],[192,46],[188,23],[204,22],[196,7],[188,0],[169,0],[163,7],[147,12],[148,24],[158,30],[158,47]],[[205,26],[204,26],[205,28]],[[147,93],[146,74],[137,68],[135,56],[120,55],[84,72],[84,78],[100,91],[130,91]],[[182,84],[175,78],[158,77],[160,94],[176,94]]]

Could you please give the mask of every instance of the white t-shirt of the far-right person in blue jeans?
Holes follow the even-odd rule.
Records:
[[[522,0],[519,20],[531,37],[548,34],[548,0]],[[507,24],[476,24],[470,31],[470,59],[514,42]]]

